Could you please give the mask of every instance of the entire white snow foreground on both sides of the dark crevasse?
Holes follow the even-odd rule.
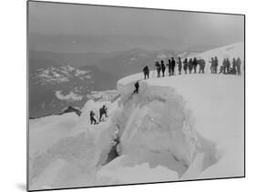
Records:
[[[121,97],[97,93],[107,100],[87,101],[81,116],[29,120],[29,189],[243,176],[243,75],[150,76],[120,79]],[[106,104],[108,118],[89,125]]]

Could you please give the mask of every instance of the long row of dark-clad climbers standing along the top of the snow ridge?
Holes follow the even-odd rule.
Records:
[[[214,58],[211,57],[210,62],[210,72],[212,74],[217,74],[217,69],[218,69],[218,57],[215,56]],[[159,61],[155,62],[155,68],[156,71],[158,73],[158,77],[165,76],[165,71],[166,71],[166,67],[168,67],[168,71],[169,71],[169,76],[174,76],[175,75],[175,67],[178,66],[178,71],[179,71],[179,75],[181,75],[181,71],[182,71],[182,63],[183,63],[183,71],[185,74],[189,73],[191,74],[192,71],[194,72],[194,74],[197,73],[197,68],[198,66],[200,66],[199,68],[199,73],[204,74],[205,71],[205,60],[204,59],[197,59],[196,57],[189,58],[185,58],[183,60],[183,62],[181,61],[181,58],[178,57],[177,60],[174,59],[174,57],[171,57],[171,59],[168,59],[168,64],[165,65],[164,61],[161,60],[160,63]],[[223,74],[234,74],[234,75],[241,75],[241,59],[240,57],[238,57],[237,59],[233,58],[232,60],[232,67],[230,67],[230,60],[229,58],[224,58],[223,60],[223,66],[220,66],[220,73]],[[143,74],[144,74],[144,79],[148,79],[149,78],[149,68],[148,66],[144,66],[143,68]]]

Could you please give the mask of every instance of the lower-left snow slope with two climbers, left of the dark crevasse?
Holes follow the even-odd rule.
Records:
[[[115,127],[89,125],[89,111],[108,106],[111,119],[118,103],[87,101],[82,115],[69,113],[29,120],[29,188],[97,185],[97,166],[108,159]],[[98,114],[97,114],[98,117]]]

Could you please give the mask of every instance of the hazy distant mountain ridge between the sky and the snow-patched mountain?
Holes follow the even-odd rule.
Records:
[[[101,71],[123,77],[142,70],[143,66],[153,67],[155,59],[176,56],[174,51],[150,51],[133,48],[113,53],[57,53],[29,51],[29,71],[33,73],[40,67],[48,66],[97,66]]]

